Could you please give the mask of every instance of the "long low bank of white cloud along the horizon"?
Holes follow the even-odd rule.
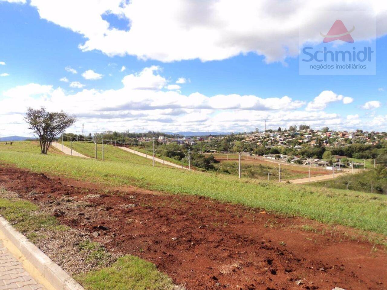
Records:
[[[60,87],[55,89],[51,85],[39,84],[14,87],[3,92],[3,96],[0,92],[0,124],[7,124],[5,130],[9,130],[11,125],[7,118],[12,116],[15,124],[18,124],[15,128],[25,131],[23,113],[27,106],[45,106],[50,111],[63,110],[75,114],[79,123],[87,124],[87,130],[91,131],[130,129],[139,132],[144,126],[146,130],[161,131],[237,132],[251,131],[255,127],[262,129],[265,119],[269,120],[268,128],[307,123],[312,128],[328,126],[348,129],[358,127],[360,122],[356,115],[341,118],[337,113],[306,111],[302,109],[305,102],[289,96],[205,96],[200,92],[184,95],[177,90],[165,91],[168,81],[160,75],[160,71],[156,66],[144,68],[123,77],[121,88],[110,90],[68,92]],[[70,87],[82,88],[83,85],[72,82]],[[319,96],[324,94],[322,92]],[[15,107],[15,103],[23,106]],[[377,130],[370,122],[362,120],[360,124],[362,128],[368,126]]]

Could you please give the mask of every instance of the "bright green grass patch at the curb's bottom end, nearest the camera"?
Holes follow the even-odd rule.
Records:
[[[108,268],[75,276],[86,290],[172,290],[171,279],[154,264],[123,256]]]

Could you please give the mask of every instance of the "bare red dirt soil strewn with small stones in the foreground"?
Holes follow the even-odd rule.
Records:
[[[306,223],[324,225],[302,218],[197,196],[113,191],[8,165],[0,166],[0,186],[53,210],[87,202],[65,210],[60,222],[90,235],[99,232],[92,238],[109,251],[151,261],[189,290],[387,289],[384,249],[337,232],[303,232]]]

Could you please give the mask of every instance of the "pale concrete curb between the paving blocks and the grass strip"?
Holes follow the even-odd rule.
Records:
[[[28,268],[26,270],[34,272],[30,273],[31,275],[40,276],[40,279],[38,278],[37,280],[40,280],[39,283],[43,284],[47,289],[84,290],[79,283],[48,258],[38,247],[28,241],[24,235],[15,230],[1,215],[0,232],[8,240],[8,243],[6,242],[5,244],[7,244],[9,250],[18,259],[26,262],[26,268]],[[23,263],[23,266],[25,266],[25,263]]]

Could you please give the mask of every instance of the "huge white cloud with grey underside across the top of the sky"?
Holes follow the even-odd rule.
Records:
[[[330,27],[330,19],[319,17],[322,11],[345,11],[349,4],[336,0],[31,0],[31,5],[41,18],[84,36],[82,51],[96,49],[109,56],[165,62],[223,60],[253,52],[272,62],[298,55],[299,25],[316,31]],[[364,17],[376,17],[378,35],[386,34],[385,2],[352,0],[350,5],[369,11]],[[127,20],[130,29],[111,27],[103,14]],[[361,19],[353,21],[357,39],[368,40],[370,29],[361,25]]]

